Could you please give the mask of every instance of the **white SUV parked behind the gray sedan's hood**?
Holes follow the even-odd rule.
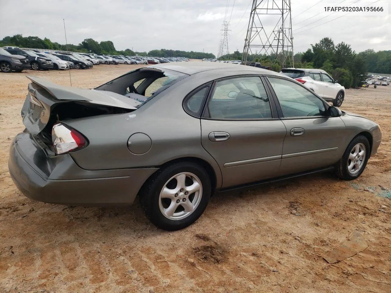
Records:
[[[326,71],[310,68],[283,68],[280,73],[296,79],[335,107],[342,105],[345,88]]]

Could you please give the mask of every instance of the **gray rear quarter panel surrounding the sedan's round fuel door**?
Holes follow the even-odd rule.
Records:
[[[208,79],[205,79],[205,82]],[[81,132],[88,147],[71,154],[86,170],[105,170],[160,166],[183,157],[208,162],[221,186],[221,171],[213,157],[201,145],[201,123],[183,110],[183,98],[200,81],[193,76],[166,89],[140,109],[127,114],[94,116],[64,121]],[[134,133],[151,138],[152,146],[142,155],[129,151],[127,141]]]

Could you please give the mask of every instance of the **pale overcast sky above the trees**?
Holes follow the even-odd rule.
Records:
[[[319,0],[291,1],[294,52],[307,50],[323,37],[332,38],[335,44],[344,41],[356,52],[391,50],[390,17],[324,12],[323,7],[342,1],[322,0],[311,9],[308,8]],[[344,0],[343,4],[375,1]],[[113,41],[117,50],[204,50],[217,54],[225,18],[231,29],[229,51],[242,52],[251,4],[252,0],[230,0],[226,9],[227,0],[0,0],[1,10],[6,12],[0,18],[0,39],[22,34],[65,44],[65,18],[68,43],[75,45],[93,38],[98,42]],[[391,6],[391,0],[374,5],[381,4]],[[339,16],[342,17],[331,21]],[[273,30],[276,21],[271,18],[262,19],[265,31]]]

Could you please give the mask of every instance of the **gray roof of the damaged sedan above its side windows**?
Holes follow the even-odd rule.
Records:
[[[267,75],[276,75],[276,76],[282,76],[277,72],[274,72],[272,70],[267,70],[263,68],[256,68],[253,66],[247,66],[247,65],[240,65],[240,64],[232,64],[232,63],[222,63],[222,62],[176,62],[176,63],[162,63],[162,64],[155,64],[152,66],[153,68],[163,68],[163,69],[169,69],[178,71],[181,73],[185,73],[188,75],[192,75],[195,73],[203,72],[203,71],[209,71],[209,70],[219,70],[219,69],[227,69],[231,72],[234,72],[235,69],[240,69],[240,71],[248,71],[248,74],[267,74]],[[246,72],[247,73],[247,72]],[[242,73],[241,73],[242,74]]]

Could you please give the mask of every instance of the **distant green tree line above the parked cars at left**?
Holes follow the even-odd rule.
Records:
[[[112,41],[101,41],[98,43],[94,39],[84,39],[79,45],[59,44],[52,42],[48,38],[41,39],[36,36],[23,37],[21,34],[14,36],[6,36],[0,40],[0,47],[3,46],[18,46],[21,48],[47,49],[47,50],[62,50],[72,52],[84,52],[94,54],[108,55],[126,55],[126,56],[153,56],[153,57],[187,57],[189,59],[215,58],[212,53],[180,51],[180,50],[151,50],[149,52],[133,52],[131,49],[116,50]]]

